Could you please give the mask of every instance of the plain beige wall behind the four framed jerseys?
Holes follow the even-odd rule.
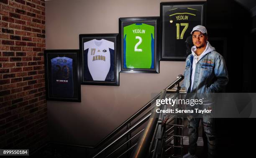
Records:
[[[81,33],[118,33],[118,18],[159,16],[161,0],[46,1],[46,49],[79,49]],[[120,86],[81,85],[81,103],[47,101],[53,141],[95,145],[178,74],[184,62],[161,61],[160,74],[120,73]]]

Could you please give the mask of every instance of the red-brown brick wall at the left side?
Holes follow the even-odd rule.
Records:
[[[0,0],[0,148],[47,140],[44,0]]]

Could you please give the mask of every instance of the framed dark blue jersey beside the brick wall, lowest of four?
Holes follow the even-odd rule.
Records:
[[[46,99],[81,102],[79,50],[45,50]]]

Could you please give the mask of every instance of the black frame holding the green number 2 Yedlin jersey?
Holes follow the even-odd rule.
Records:
[[[144,29],[144,31],[143,29],[136,29],[138,28],[137,25],[141,25],[141,27],[146,29]],[[154,26],[154,28],[152,26]],[[119,18],[120,72],[159,73],[159,26],[159,17]],[[145,44],[143,43],[141,48],[139,45],[145,40],[143,40],[143,38],[139,38],[140,36],[137,38],[136,35],[133,35],[136,32],[133,32],[133,34],[131,34],[131,36],[127,36],[127,38],[125,36],[128,35],[127,33],[129,32],[131,33],[133,28],[138,31],[137,33],[145,34],[145,36],[141,36],[146,39],[147,42]],[[152,33],[153,29],[154,35]],[[146,32],[146,30],[149,31]],[[151,37],[148,36],[148,32],[151,33],[149,34]],[[141,54],[141,56],[134,56],[135,53],[141,53],[143,50],[146,50],[144,52],[148,53],[144,53],[144,55]],[[130,52],[129,55],[127,55],[127,52]],[[127,66],[128,64],[129,66]]]

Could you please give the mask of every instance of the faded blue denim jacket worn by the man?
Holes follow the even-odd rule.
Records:
[[[208,52],[203,53],[201,59],[195,64],[194,83],[193,87],[191,87],[192,64],[195,55],[193,51],[195,46],[194,48],[192,47],[192,54],[189,54],[186,59],[184,82],[182,84],[182,87],[185,87],[187,92],[222,92],[225,85],[228,84],[228,70],[224,58],[215,51],[215,48],[211,47],[212,49],[210,49],[210,47],[210,43],[207,41]]]

